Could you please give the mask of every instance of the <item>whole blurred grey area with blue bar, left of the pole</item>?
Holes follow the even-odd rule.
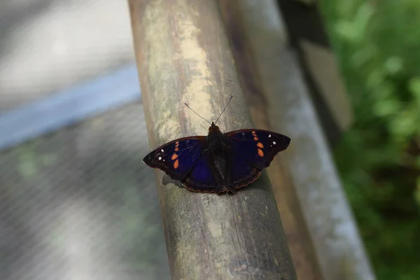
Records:
[[[0,1],[0,279],[169,279],[127,1]]]

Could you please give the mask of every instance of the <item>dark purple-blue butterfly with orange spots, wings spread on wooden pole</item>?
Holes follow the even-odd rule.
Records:
[[[246,129],[223,134],[216,123],[211,123],[207,137],[170,141],[146,155],[143,162],[181,181],[188,190],[221,195],[235,193],[255,181],[291,141],[283,134],[267,130]]]

